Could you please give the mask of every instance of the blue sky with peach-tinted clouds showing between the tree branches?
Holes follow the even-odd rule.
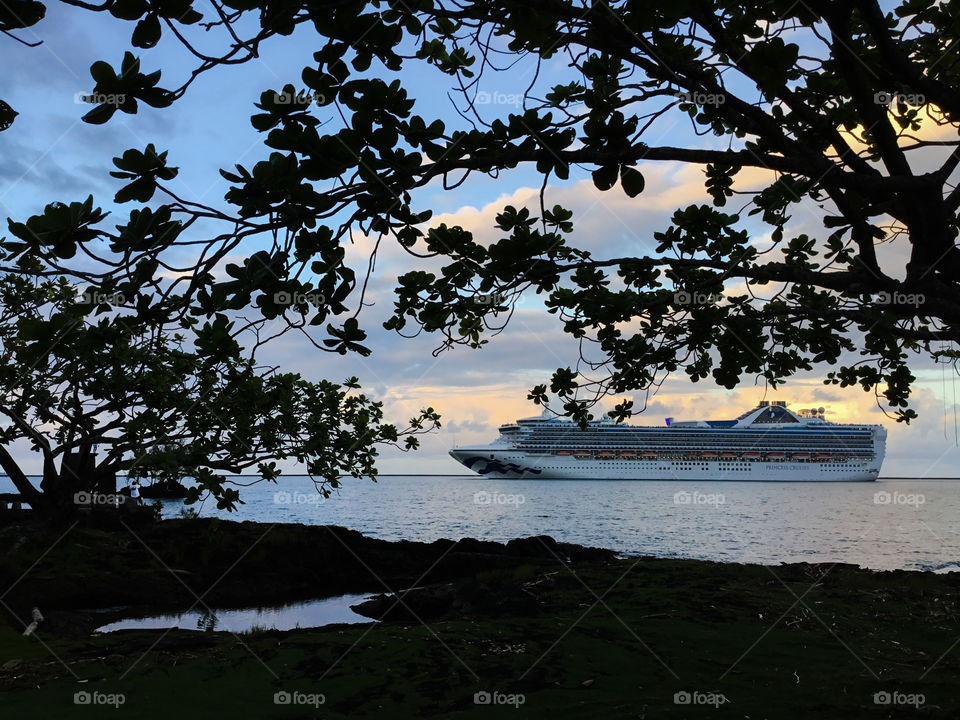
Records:
[[[316,49],[311,32],[298,31],[292,38],[267,43],[256,61],[201,76],[171,108],[142,107],[137,115],[117,113],[106,125],[88,125],[80,117],[90,106],[77,100],[92,89],[88,68],[100,59],[118,65],[129,49],[133,24],[61,3],[51,3],[47,12],[39,25],[21,33],[25,40],[42,41],[41,46],[27,48],[3,39],[0,98],[20,116],[9,130],[0,133],[0,214],[17,221],[40,212],[48,202],[82,200],[88,194],[109,208],[119,187],[108,175],[110,158],[150,142],[169,150],[170,164],[181,169],[172,183],[174,191],[198,202],[217,204],[228,187],[217,170],[235,164],[252,166],[267,153],[262,145],[264,136],[249,124],[249,116],[256,112],[253,103],[267,89],[279,89],[286,83],[302,87],[300,69],[310,64]],[[218,43],[215,32],[200,40],[205,48]],[[169,33],[156,48],[137,50],[136,54],[145,70],[163,69],[160,84],[165,87],[179,85],[192,67]],[[564,63],[562,56],[549,61],[542,76],[560,77]],[[491,116],[516,111],[516,95],[532,79],[532,73],[532,67],[520,65],[509,73],[485,78],[481,90],[489,103],[482,111]],[[405,70],[402,79],[418,101],[417,112],[449,118],[448,126],[457,122],[450,94],[444,91],[450,86],[449,78],[421,68]],[[671,121],[656,126],[649,143],[690,140],[688,128]],[[722,146],[723,139],[700,138],[696,142]],[[647,190],[636,199],[617,188],[601,193],[588,175],[578,174],[576,169],[568,181],[548,188],[551,205],[559,203],[574,211],[576,244],[597,256],[646,254],[654,245],[653,233],[667,227],[676,208],[708,200],[698,167],[644,163],[641,169]],[[745,174],[742,182],[749,185],[761,180],[758,175]],[[518,171],[497,180],[475,177],[456,191],[428,188],[425,200],[435,209],[432,224],[459,224],[474,231],[478,239],[492,241],[497,237],[493,229],[497,212],[506,204],[533,208],[538,192],[539,177],[532,171]],[[813,205],[795,209],[788,236],[800,232],[822,236],[821,214]],[[769,238],[758,228],[754,240],[762,247]],[[370,247],[369,239],[358,237],[349,248],[348,258],[358,269],[365,265]],[[249,252],[255,249],[252,245],[244,248]],[[902,268],[904,253],[902,245],[883,246],[881,262]],[[371,357],[322,353],[294,335],[275,341],[261,357],[310,379],[342,380],[356,375],[368,394],[385,402],[389,419],[398,423],[415,415],[420,407],[432,406],[443,416],[442,429],[424,438],[416,453],[384,450],[380,470],[461,473],[463,468],[449,458],[448,450],[458,444],[491,441],[501,423],[538,414],[526,400],[527,392],[545,382],[555,368],[575,363],[577,347],[531,295],[521,299],[509,327],[485,348],[457,348],[434,357],[431,351],[439,342],[437,337],[405,339],[381,327],[392,310],[397,276],[415,267],[395,245],[387,244],[378,255],[367,298],[373,304],[361,316],[374,350]],[[801,373],[776,390],[750,377],[744,378],[740,388],[729,391],[715,387],[710,380],[693,384],[677,374],[632,422],[660,425],[665,417],[731,418],[761,399],[782,399],[794,408],[823,406],[827,418],[835,422],[885,425],[889,434],[884,476],[960,476],[957,381],[952,372],[930,360],[916,359],[913,407],[920,417],[905,426],[886,417],[872,394],[824,385],[828,370],[818,367]],[[643,402],[640,396],[635,400],[638,405]],[[28,448],[15,450],[28,470],[39,468]],[[296,468],[289,466],[288,471],[296,472]]]

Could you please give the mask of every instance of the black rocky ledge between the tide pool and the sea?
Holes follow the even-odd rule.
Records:
[[[48,547],[31,569],[34,558],[25,550]],[[110,622],[131,609],[176,611],[198,598],[218,608],[276,605],[351,592],[404,591],[414,584],[452,587],[454,580],[530,562],[605,563],[616,557],[550,537],[508,543],[471,538],[388,542],[329,525],[217,518],[137,522],[110,516],[76,526],[0,526],[0,548],[0,586],[12,586],[5,597],[12,611],[27,617],[39,607],[48,631],[70,634],[85,633],[90,623]],[[424,597],[418,589],[409,602]],[[103,608],[118,610],[85,612]],[[90,622],[82,622],[87,616]]]

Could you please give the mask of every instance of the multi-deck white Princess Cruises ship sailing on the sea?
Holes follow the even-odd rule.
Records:
[[[667,418],[657,427],[603,419],[584,430],[544,412],[450,455],[492,478],[851,482],[877,479],[886,440],[880,425],[833,423],[823,408],[794,412],[764,400],[735,420]]]

